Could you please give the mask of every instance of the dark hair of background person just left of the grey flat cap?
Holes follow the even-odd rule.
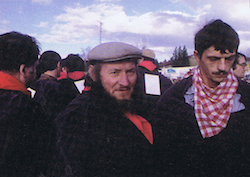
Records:
[[[79,55],[69,54],[63,61],[62,67],[67,67],[69,72],[84,71],[85,64]]]

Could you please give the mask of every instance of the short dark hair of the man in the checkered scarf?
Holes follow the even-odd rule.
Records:
[[[201,57],[204,50],[214,46],[215,50],[225,53],[228,49],[230,52],[238,50],[239,37],[236,31],[221,20],[209,22],[195,35],[195,50]]]

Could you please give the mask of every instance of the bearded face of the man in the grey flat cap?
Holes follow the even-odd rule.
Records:
[[[103,63],[100,79],[110,96],[116,100],[129,100],[137,79],[136,65],[132,61]]]

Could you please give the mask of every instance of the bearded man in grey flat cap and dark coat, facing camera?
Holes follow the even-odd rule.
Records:
[[[152,176],[152,127],[139,113],[138,48],[103,43],[88,54],[91,90],[59,114],[53,176]]]

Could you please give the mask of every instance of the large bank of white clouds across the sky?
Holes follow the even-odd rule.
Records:
[[[246,6],[243,0],[233,3],[235,1],[232,0],[211,0],[209,3],[197,1],[192,5],[186,3],[186,7],[192,8],[193,13],[166,9],[133,15],[128,15],[122,6],[112,3],[86,7],[78,4],[76,7],[65,7],[64,13],[54,17],[50,33],[38,38],[42,42],[86,43],[91,46],[99,38],[102,22],[103,41],[119,40],[140,47],[146,43],[161,57],[164,54],[171,56],[176,46],[186,45],[188,51],[191,51],[189,54],[192,54],[195,32],[211,19],[221,18],[241,30],[239,33],[249,36],[246,34],[250,26],[249,5]],[[38,26],[48,27],[48,23],[41,22]],[[248,41],[243,40],[242,47],[249,45]]]

